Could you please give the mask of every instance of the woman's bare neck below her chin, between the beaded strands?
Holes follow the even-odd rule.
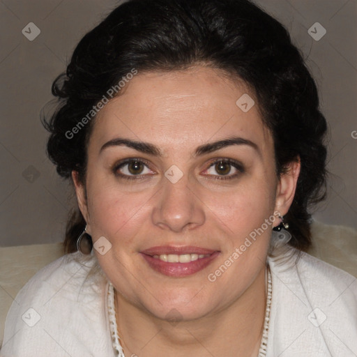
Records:
[[[125,355],[256,357],[266,310],[265,273],[263,268],[231,305],[177,324],[153,317],[115,291],[116,321]]]

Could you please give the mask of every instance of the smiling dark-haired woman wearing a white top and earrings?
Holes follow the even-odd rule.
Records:
[[[79,211],[1,356],[357,354],[356,279],[305,253],[326,120],[279,22],[248,0],[131,0],[52,91],[47,151]]]

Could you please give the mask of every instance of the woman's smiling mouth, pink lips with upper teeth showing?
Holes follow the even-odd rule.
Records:
[[[176,278],[195,274],[220,255],[218,250],[199,247],[153,247],[140,252],[154,271]]]

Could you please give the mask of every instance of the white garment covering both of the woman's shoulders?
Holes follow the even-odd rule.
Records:
[[[115,356],[109,282],[93,255],[83,257],[76,252],[57,259],[20,290],[6,318],[1,357]],[[268,262],[267,356],[356,357],[357,279],[305,253],[297,263]]]

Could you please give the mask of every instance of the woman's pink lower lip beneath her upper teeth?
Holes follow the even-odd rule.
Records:
[[[155,271],[167,276],[172,277],[184,277],[202,271],[206,266],[218,257],[220,252],[214,252],[209,257],[190,261],[190,263],[168,263],[158,258],[153,258],[151,255],[141,253],[144,259],[148,262],[149,266]]]

